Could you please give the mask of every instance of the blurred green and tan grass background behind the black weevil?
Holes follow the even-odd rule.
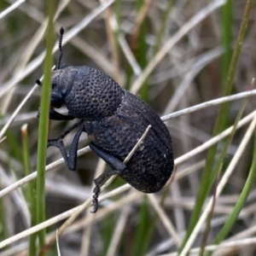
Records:
[[[0,1],[0,190],[26,177],[29,172],[36,171],[38,154],[43,158],[45,154],[44,147],[38,149],[37,113],[43,93],[39,87],[33,91],[8,130],[1,134],[4,125],[32,90],[35,81],[45,74],[42,53],[50,49],[45,44],[48,35],[47,1],[21,2],[5,15],[4,11],[14,1]],[[152,72],[143,79],[138,95],[160,116],[253,88],[256,57],[253,14],[256,7],[255,3],[249,5],[253,1],[227,0],[225,4],[220,4],[224,1],[116,0],[112,1],[114,3],[108,9],[90,19],[100,6],[110,2],[54,1],[55,42],[60,27],[65,29],[62,63],[96,67],[125,89],[132,90],[148,66],[157,61]],[[198,18],[200,14],[206,13],[206,7],[213,3],[219,3],[218,7],[196,26],[192,26],[168,49],[166,55],[160,57],[166,44],[191,25],[193,17]],[[246,7],[248,12],[243,16]],[[242,29],[243,17],[248,19],[248,23],[247,27],[243,27],[245,34],[244,38],[240,38],[240,51],[237,49],[237,38]],[[237,54],[237,63],[231,61],[234,53]],[[57,55],[55,48],[55,62]],[[230,79],[227,85],[230,68],[235,71],[234,79]],[[49,96],[49,92],[43,95]],[[231,125],[236,126],[254,108],[254,97],[250,96],[246,100],[203,108],[167,120],[175,158],[208,142],[212,134],[215,136]],[[65,113],[66,109],[61,108],[61,111]],[[27,131],[21,132],[20,128],[24,124],[27,124]],[[45,120],[43,124],[48,126]],[[58,136],[71,124],[69,121],[50,121],[49,137]],[[230,137],[211,150],[204,150],[177,165],[172,184],[168,183],[165,189],[155,195],[159,211],[164,215],[155,208],[151,195],[135,194],[135,189],[125,191],[102,201],[95,215],[86,210],[74,222],[72,229],[59,237],[61,255],[182,253],[193,236],[191,234],[195,226],[200,223],[207,202],[212,195],[217,196],[218,184],[229,170],[230,163],[236,160],[249,125],[234,130]],[[3,135],[6,138],[2,141]],[[67,149],[73,136],[74,133],[71,133],[65,138]],[[233,247],[223,251],[217,248],[212,255],[229,253],[253,256],[256,253],[256,241],[246,246],[241,243],[253,239],[256,228],[255,135],[251,132],[250,136],[224,189],[216,197],[212,212],[203,222],[206,225],[202,225],[195,236],[192,247],[199,249],[191,255],[200,255],[200,249],[201,255],[204,255],[208,245],[236,239],[240,241],[236,241]],[[79,148],[84,148],[88,143],[86,134],[83,134]],[[57,148],[47,148],[47,165],[60,158]],[[45,214],[46,219],[78,206],[91,196],[97,162],[96,154],[90,152],[79,156],[77,172],[70,172],[67,166],[59,165],[46,173],[43,188],[45,210],[43,192],[43,201],[38,203],[43,207],[41,213]],[[44,169],[44,166],[41,168]],[[44,176],[39,182],[44,185]],[[108,191],[123,184],[117,177]],[[0,198],[0,256],[36,255],[42,249],[43,235],[40,246],[37,243],[38,236],[34,235],[1,248],[1,241],[37,223],[35,185],[35,181],[26,183]],[[132,193],[134,199],[131,200]],[[111,210],[119,201],[122,204]],[[39,222],[44,222],[44,219]],[[61,224],[58,222],[46,229],[46,241]],[[174,235],[170,235],[172,225]],[[56,245],[43,254],[57,255]]]

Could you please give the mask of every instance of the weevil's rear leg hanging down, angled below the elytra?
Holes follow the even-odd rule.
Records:
[[[101,148],[96,147],[96,145],[94,145],[93,143],[90,143],[90,149],[93,150],[100,158],[102,158],[102,160],[106,161],[108,165],[113,168],[107,172],[103,172],[99,177],[96,177],[96,179],[94,179],[95,188],[93,189],[93,193],[94,193],[94,195],[92,196],[93,210],[91,212],[95,213],[98,209],[98,196],[99,196],[99,193],[101,192],[101,189],[100,189],[101,184],[107,177],[110,177],[113,175],[119,175],[122,172],[124,172],[126,169],[126,166],[121,160],[117,159],[111,154],[108,154],[106,151],[102,150]]]

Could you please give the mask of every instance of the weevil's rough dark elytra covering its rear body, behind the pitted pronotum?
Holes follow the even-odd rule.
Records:
[[[148,125],[152,128],[120,177],[144,193],[159,191],[172,174],[171,137],[159,116],[137,96],[125,91],[124,99],[111,117],[84,123],[84,131],[96,144],[119,160],[125,160]]]

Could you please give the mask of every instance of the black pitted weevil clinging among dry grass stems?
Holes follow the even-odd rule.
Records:
[[[90,149],[111,167],[111,170],[94,180],[92,212],[98,208],[100,186],[112,175],[119,175],[143,193],[159,191],[171,177],[174,166],[172,139],[166,125],[148,104],[121,88],[105,73],[86,66],[62,66],[62,27],[60,34],[60,53],[52,73],[49,119],[79,121],[68,127],[60,137],[49,140],[47,146],[59,148],[68,169],[74,171],[79,137],[86,132]],[[62,105],[66,106],[67,115],[55,111]],[[148,125],[152,127],[143,143],[124,164],[125,157]],[[77,127],[79,130],[73,137],[67,155],[63,138]]]

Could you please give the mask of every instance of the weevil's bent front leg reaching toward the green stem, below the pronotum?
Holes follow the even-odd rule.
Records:
[[[82,122],[79,120],[79,122],[75,123],[74,125],[70,126],[67,131],[64,131],[62,135],[65,137],[68,132],[72,131],[75,127],[80,125]],[[70,129],[73,128],[73,129]],[[79,129],[79,131],[76,133],[75,137],[73,137],[73,142],[71,143],[71,146],[69,148],[69,154],[67,155],[67,152],[64,148],[64,143],[62,138],[63,137],[57,137],[54,140],[49,140],[47,147],[54,146],[56,148],[59,148],[62,154],[63,159],[65,160],[67,167],[71,171],[75,171],[77,166],[77,156],[78,156],[78,146],[79,146],[79,137],[81,136],[82,132],[84,131],[84,126]]]

